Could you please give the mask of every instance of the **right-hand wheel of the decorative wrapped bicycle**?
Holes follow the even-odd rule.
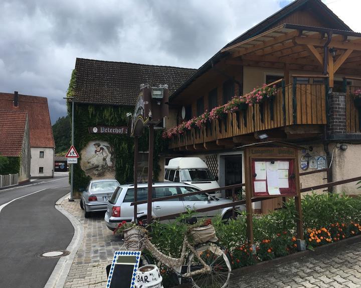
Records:
[[[203,264],[200,262],[199,258],[202,258],[202,260],[211,267],[211,272],[192,276],[191,280],[194,287],[227,287],[232,268],[224,249],[218,244],[210,242],[198,245],[196,247],[196,252],[197,256],[194,253],[191,253],[188,256],[187,272],[190,273],[203,268]]]

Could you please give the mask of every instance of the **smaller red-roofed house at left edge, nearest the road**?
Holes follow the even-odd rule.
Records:
[[[19,173],[19,182],[30,178],[30,132],[28,113],[0,110],[0,155],[9,165],[0,174]]]

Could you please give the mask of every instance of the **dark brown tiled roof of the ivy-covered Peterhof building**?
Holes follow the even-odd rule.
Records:
[[[173,93],[197,69],[77,58],[75,101],[132,106],[139,85],[167,84]]]

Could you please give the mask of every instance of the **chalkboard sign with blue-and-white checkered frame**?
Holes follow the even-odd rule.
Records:
[[[115,251],[106,288],[134,288],[141,251]]]

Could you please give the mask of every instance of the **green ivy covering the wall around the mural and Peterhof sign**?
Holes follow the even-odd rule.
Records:
[[[73,79],[73,75],[72,75]],[[71,80],[72,82],[72,80]],[[69,85],[70,89],[71,83]],[[69,91],[69,90],[68,90]],[[89,133],[89,126],[126,126],[126,113],[133,112],[133,107],[105,106],[76,103],[74,107],[74,145],[81,151],[89,141],[104,140],[114,148],[115,178],[121,183],[133,182],[134,138],[126,134],[95,134]],[[68,103],[68,113],[71,116],[71,103]],[[154,133],[153,178],[157,179],[160,166],[159,154],[164,151],[166,143],[161,138],[160,130]],[[139,138],[139,151],[148,150],[148,129],[144,129]],[[78,163],[81,158],[79,158]],[[74,165],[74,190],[85,188],[91,179],[81,169],[80,164]]]

